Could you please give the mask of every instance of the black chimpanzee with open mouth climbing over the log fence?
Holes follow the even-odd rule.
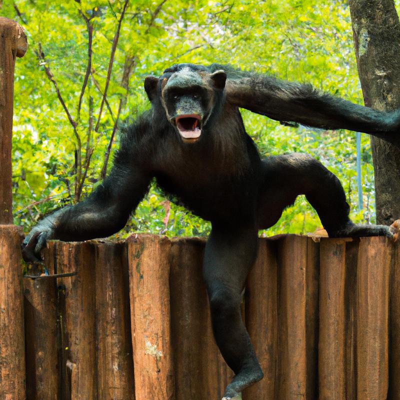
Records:
[[[282,122],[366,132],[396,146],[400,111],[376,111],[307,84],[218,64],[176,64],[159,78],[146,77],[144,88],[151,109],[122,132],[109,175],[84,201],[42,219],[26,236],[23,255],[36,260],[48,239],[118,231],[155,177],[165,192],[211,221],[203,275],[215,340],[235,373],[223,398],[240,398],[263,375],[240,315],[258,229],[272,226],[298,194],[305,194],[329,236],[391,237],[399,221],[391,227],[352,223],[336,176],[307,154],[261,159],[238,108]]]

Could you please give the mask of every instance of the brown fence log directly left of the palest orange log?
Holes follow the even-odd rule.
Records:
[[[126,243],[94,248],[98,400],[134,400]]]

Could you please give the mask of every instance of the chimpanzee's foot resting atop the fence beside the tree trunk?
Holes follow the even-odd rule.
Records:
[[[344,228],[328,231],[329,237],[346,236],[387,236],[396,241],[400,233],[400,219],[396,219],[390,226],[387,225],[361,225],[348,221]]]

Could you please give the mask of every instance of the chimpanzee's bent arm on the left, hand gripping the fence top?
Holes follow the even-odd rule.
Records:
[[[127,129],[109,175],[85,200],[53,212],[32,228],[23,241],[26,261],[40,258],[46,240],[106,237],[125,225],[152,177],[146,161],[150,157],[145,157],[141,148],[143,136],[151,130],[150,121],[148,116],[141,116]]]

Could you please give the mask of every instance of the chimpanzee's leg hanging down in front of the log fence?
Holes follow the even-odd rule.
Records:
[[[223,399],[240,398],[243,388],[263,376],[240,313],[241,291],[256,247],[256,227],[236,229],[215,224],[205,246],[203,276],[212,329],[224,360],[235,373]]]

